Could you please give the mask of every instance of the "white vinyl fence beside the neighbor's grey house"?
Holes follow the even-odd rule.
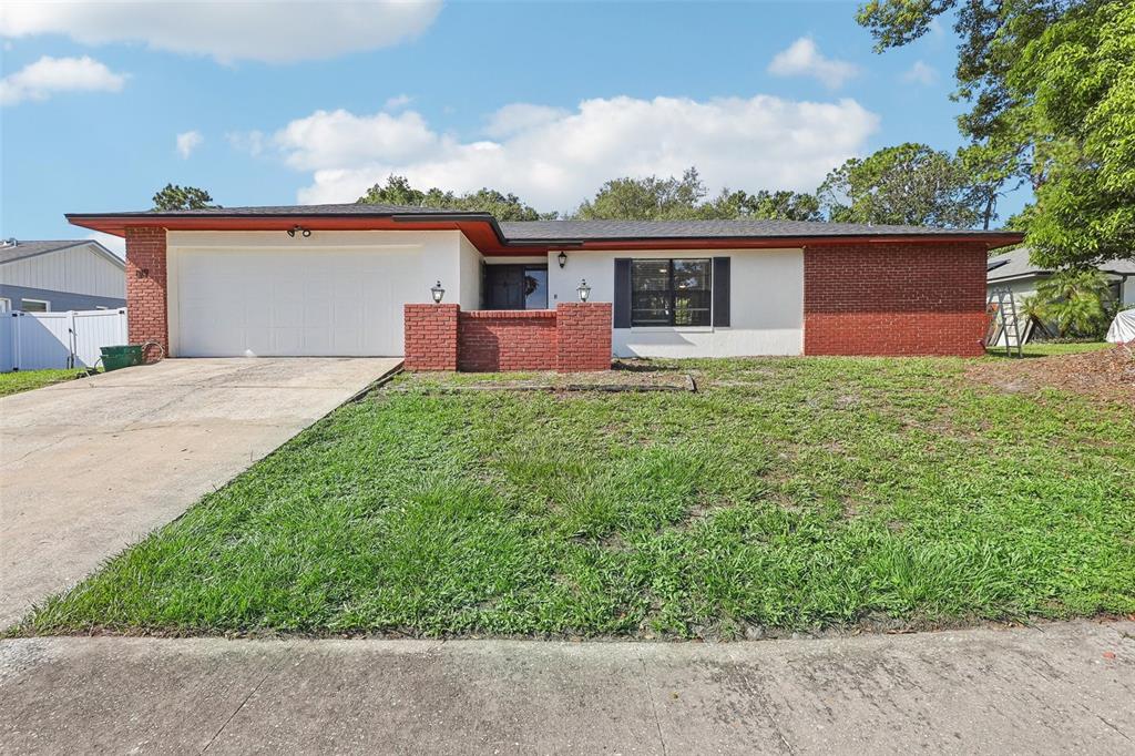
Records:
[[[93,368],[103,346],[126,344],[126,308],[0,314],[0,371]]]

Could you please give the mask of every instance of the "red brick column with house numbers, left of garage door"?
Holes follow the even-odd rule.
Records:
[[[158,342],[169,353],[166,229],[126,228],[126,325],[131,344]],[[158,351],[146,351],[157,360]]]

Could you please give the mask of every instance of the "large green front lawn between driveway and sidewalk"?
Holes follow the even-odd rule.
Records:
[[[18,632],[738,638],[1135,611],[1135,412],[966,364],[681,363],[697,394],[403,376]]]

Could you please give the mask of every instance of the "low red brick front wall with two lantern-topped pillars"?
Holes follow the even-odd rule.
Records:
[[[558,370],[611,368],[611,303],[553,310],[473,310],[405,305],[406,370]]]

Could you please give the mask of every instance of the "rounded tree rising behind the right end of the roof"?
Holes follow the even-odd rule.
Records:
[[[833,221],[945,228],[973,226],[982,202],[960,159],[909,142],[851,158],[817,194]]]

